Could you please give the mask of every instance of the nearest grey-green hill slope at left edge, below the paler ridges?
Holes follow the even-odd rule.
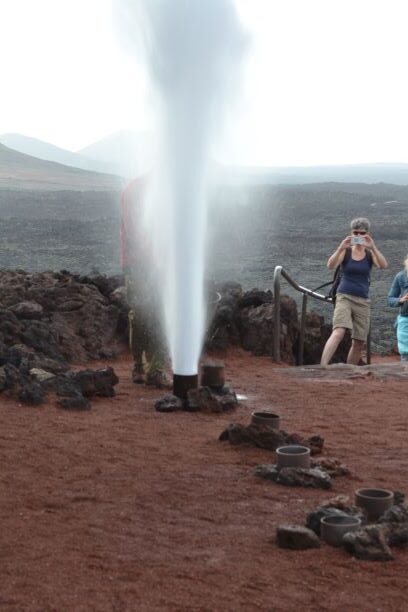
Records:
[[[123,180],[25,155],[0,144],[0,189],[117,190]]]

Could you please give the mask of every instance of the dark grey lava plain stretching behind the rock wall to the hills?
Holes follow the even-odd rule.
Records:
[[[119,191],[0,190],[0,267],[116,274],[119,200]],[[283,265],[314,289],[332,277],[326,261],[350,220],[366,216],[389,263],[371,285],[373,349],[387,352],[395,312],[386,296],[408,252],[407,211],[408,187],[385,183],[224,186],[209,207],[207,277],[272,289],[274,268]],[[297,297],[286,283],[283,292]],[[331,316],[330,305],[311,307]]]

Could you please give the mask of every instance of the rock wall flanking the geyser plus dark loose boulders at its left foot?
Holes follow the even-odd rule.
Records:
[[[57,393],[65,408],[89,408],[93,395],[114,395],[111,368],[74,372],[72,363],[114,358],[126,350],[128,311],[123,277],[80,276],[66,271],[0,270],[0,392],[38,405]],[[215,304],[215,297],[218,296]],[[272,355],[274,299],[271,292],[244,292],[238,283],[208,287],[207,350],[242,346]],[[282,296],[281,358],[296,362],[299,323],[295,302]],[[305,363],[316,363],[329,328],[310,315]],[[338,359],[344,359],[343,342]]]

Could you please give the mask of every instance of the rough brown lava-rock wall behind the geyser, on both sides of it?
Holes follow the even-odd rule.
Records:
[[[221,299],[208,322],[206,349],[242,346],[253,355],[272,356],[274,298],[271,291],[244,292],[238,283],[210,288]],[[28,273],[0,270],[0,360],[16,351],[60,363],[114,358],[126,350],[127,313],[123,277],[93,277],[66,271]],[[318,363],[330,327],[308,313],[304,361]],[[295,364],[299,316],[294,300],[281,299],[281,359]],[[1,357],[2,356],[2,357]],[[337,355],[344,360],[344,347]]]

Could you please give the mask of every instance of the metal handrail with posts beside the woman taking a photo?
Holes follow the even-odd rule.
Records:
[[[273,273],[273,294],[275,298],[275,308],[274,308],[274,334],[273,334],[273,359],[275,361],[280,361],[280,279],[283,276],[290,285],[296,291],[299,291],[303,294],[302,298],[302,314],[300,319],[300,334],[299,334],[299,347],[298,347],[298,363],[299,365],[303,365],[303,353],[305,347],[305,327],[306,327],[306,309],[307,309],[307,298],[312,297],[315,300],[320,300],[321,302],[327,302],[329,304],[333,303],[331,297],[323,295],[322,293],[317,293],[312,289],[308,289],[307,287],[303,287],[299,285],[296,281],[293,280],[283,268],[283,266],[276,266],[275,271]],[[367,337],[367,363],[371,363],[371,343],[370,343],[370,334]]]

